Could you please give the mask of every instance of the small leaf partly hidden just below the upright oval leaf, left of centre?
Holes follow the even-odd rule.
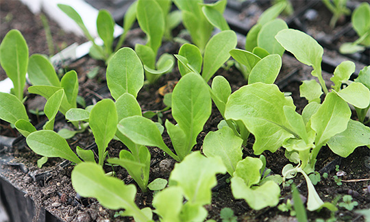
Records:
[[[128,116],[141,116],[141,108],[135,97],[130,93],[123,93],[121,97],[116,100],[116,110],[118,121]]]

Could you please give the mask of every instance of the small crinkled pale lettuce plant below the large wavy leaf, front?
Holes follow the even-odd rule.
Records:
[[[208,158],[221,158],[227,173],[232,175],[231,188],[235,198],[245,199],[254,210],[276,206],[279,203],[280,188],[272,178],[278,177],[277,180],[281,180],[281,177],[262,177],[266,166],[263,156],[262,159],[247,157],[242,160],[242,143],[243,140],[230,127],[224,126],[217,132],[207,134],[203,151]]]

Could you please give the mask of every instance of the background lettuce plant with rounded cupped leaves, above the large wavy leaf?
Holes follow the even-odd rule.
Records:
[[[249,73],[262,58],[278,54],[280,57],[285,49],[275,40],[275,35],[282,29],[287,29],[288,25],[276,18],[286,7],[286,3],[281,2],[273,5],[264,11],[258,22],[247,34],[245,40],[245,50],[233,49],[230,55],[236,60],[236,68],[248,79]]]

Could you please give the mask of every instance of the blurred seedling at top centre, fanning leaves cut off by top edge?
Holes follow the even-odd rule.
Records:
[[[182,12],[182,22],[190,33],[192,41],[203,53],[214,29],[213,22],[210,23],[210,21],[214,21],[212,18],[220,18],[219,14],[223,14],[227,1],[221,0],[209,5],[204,4],[203,0],[174,0],[173,2]],[[224,30],[223,27],[227,24],[225,22],[221,24],[221,30]]]

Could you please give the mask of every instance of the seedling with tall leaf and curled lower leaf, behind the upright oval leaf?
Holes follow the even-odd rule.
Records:
[[[150,84],[156,82],[160,75],[171,71],[175,62],[175,58],[169,53],[162,54],[156,62],[166,27],[164,13],[168,13],[170,5],[169,0],[138,0],[136,6],[136,18],[140,28],[147,34],[147,44],[136,44],[135,51],[144,64],[145,75]]]

